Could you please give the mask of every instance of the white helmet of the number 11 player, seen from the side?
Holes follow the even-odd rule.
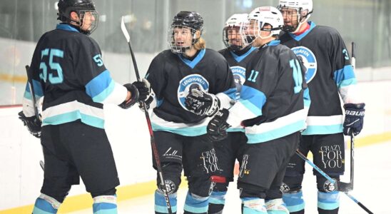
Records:
[[[253,40],[260,37],[261,39],[267,39],[270,36],[279,35],[281,29],[283,29],[284,18],[283,14],[273,6],[260,6],[248,15],[249,24],[245,28],[244,36],[245,43],[251,44]],[[253,20],[253,21],[252,21]],[[265,24],[270,24],[272,29],[263,29]],[[260,36],[260,31],[270,31],[270,36],[263,38]]]

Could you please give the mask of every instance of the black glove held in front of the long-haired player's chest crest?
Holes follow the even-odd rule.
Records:
[[[186,96],[185,106],[199,116],[213,116],[220,108],[220,100],[211,93],[205,93],[198,89],[191,89],[191,93]]]

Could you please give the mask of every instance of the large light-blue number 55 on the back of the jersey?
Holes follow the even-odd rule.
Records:
[[[46,61],[44,61],[44,56],[49,56],[49,61],[47,61],[47,57]],[[41,63],[39,64],[41,73],[39,73],[39,78],[41,78],[45,83],[48,79],[52,84],[59,84],[64,81],[63,69],[59,63],[54,62],[54,57],[64,58],[64,51],[59,49],[44,49],[41,51]],[[48,64],[50,67],[49,78]]]

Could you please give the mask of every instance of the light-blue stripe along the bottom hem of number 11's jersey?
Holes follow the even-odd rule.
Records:
[[[303,129],[304,126],[305,126],[305,121],[297,121],[287,126],[276,128],[272,131],[263,132],[263,133],[246,133],[245,136],[247,136],[248,138],[247,143],[263,143],[277,138],[282,138],[283,136],[288,136],[291,133],[300,131],[301,129]]]

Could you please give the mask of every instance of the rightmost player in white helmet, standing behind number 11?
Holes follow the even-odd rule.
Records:
[[[281,44],[290,47],[303,59],[307,71],[305,80],[311,96],[307,118],[308,128],[302,133],[300,152],[313,153],[318,165],[331,178],[344,173],[345,135],[360,133],[364,118],[364,103],[355,94],[356,78],[350,65],[346,46],[338,32],[308,21],[313,13],[312,0],[280,0],[286,34]],[[345,103],[343,120],[340,97]],[[304,213],[301,190],[305,161],[293,156],[284,178],[282,190],[290,213]],[[330,182],[313,170],[318,183],[318,212],[338,213],[339,194]]]

